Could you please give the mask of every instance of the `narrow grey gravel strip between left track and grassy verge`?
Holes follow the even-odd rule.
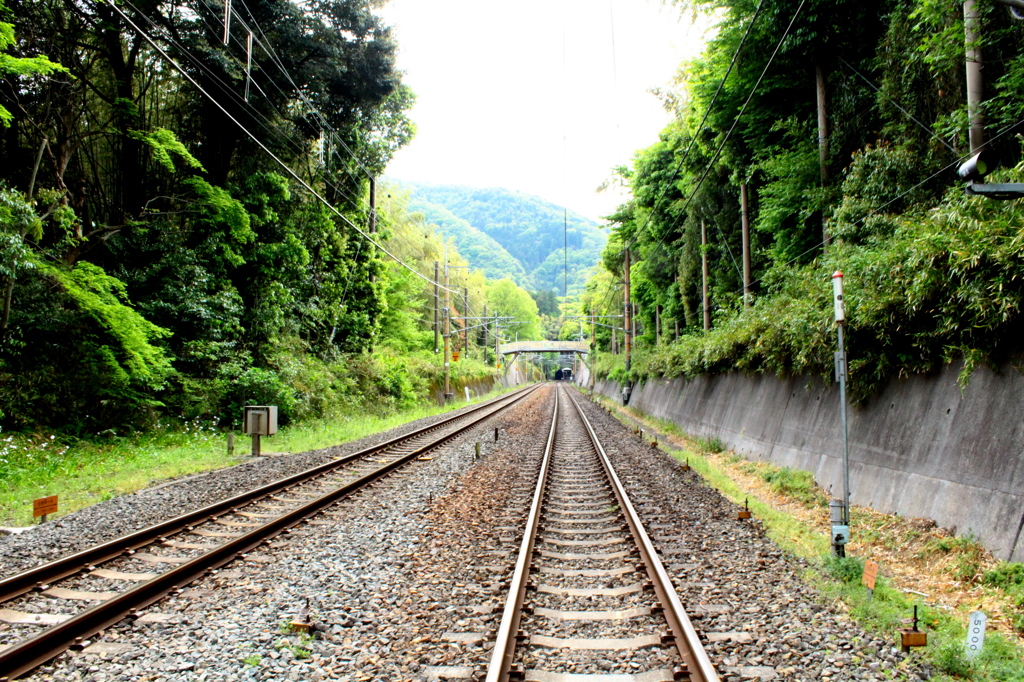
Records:
[[[17,535],[0,536],[0,578],[240,495],[336,457],[373,446],[414,428],[434,424],[454,414],[458,413],[426,417],[342,445],[297,455],[259,458],[178,481],[165,481],[81,509]]]

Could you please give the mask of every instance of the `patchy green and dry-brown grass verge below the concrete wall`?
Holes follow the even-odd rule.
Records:
[[[678,449],[669,453],[686,461],[712,486],[737,504],[749,501],[751,511],[765,531],[782,550],[808,561],[805,579],[824,601],[838,604],[865,630],[883,635],[898,646],[898,631],[908,627],[913,606],[919,607],[929,645],[914,650],[910,663],[919,664],[935,680],[1024,682],[1024,646],[1020,634],[1024,609],[1024,566],[984,559],[980,546],[970,538],[945,536],[942,529],[922,524],[923,519],[900,519],[873,510],[854,508],[851,527],[862,537],[851,554],[862,552],[879,560],[882,577],[872,598],[861,585],[863,559],[830,556],[826,497],[807,472],[779,468],[766,462],[749,462],[738,455],[722,453],[722,443],[687,436],[671,422],[653,419],[623,408],[604,396],[592,397],[611,409],[632,426],[638,421],[653,429]],[[803,510],[803,513],[801,512]],[[856,537],[856,535],[855,535]],[[961,591],[953,606],[906,585],[923,587],[887,565],[910,552],[909,571],[931,571],[944,588]],[[986,563],[991,567],[985,570]],[[950,582],[951,581],[951,582]],[[932,583],[939,587],[938,583]],[[985,646],[976,658],[965,653],[967,615],[980,608],[989,616]],[[993,632],[993,630],[995,630]]]

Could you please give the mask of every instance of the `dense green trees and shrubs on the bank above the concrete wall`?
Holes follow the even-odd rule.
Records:
[[[1024,22],[980,0],[981,40],[966,45],[964,3],[954,0],[687,7],[717,12],[718,32],[667,93],[674,121],[624,169],[634,199],[613,216],[603,271],[588,285],[589,309],[621,312],[629,249],[640,330],[632,377],[739,369],[830,378],[837,269],[846,275],[859,397],[907,373],[966,358],[969,374],[1019,351],[1021,200],[966,197],[956,168],[971,155],[965,54],[978,47],[979,112],[1002,166],[988,179],[1024,180]],[[741,185],[750,197],[749,307]],[[669,343],[677,324],[682,338]],[[607,349],[610,334],[598,337]]]

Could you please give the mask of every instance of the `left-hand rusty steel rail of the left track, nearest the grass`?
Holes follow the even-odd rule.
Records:
[[[519,395],[520,393],[524,393],[526,390],[529,390],[529,388],[522,389],[521,391],[510,395]],[[258,488],[242,493],[234,497],[227,498],[226,500],[221,500],[220,502],[215,502],[212,505],[186,512],[180,516],[175,516],[174,518],[167,519],[166,521],[161,521],[148,527],[136,530],[135,532],[122,536],[121,538],[115,538],[114,540],[90,547],[82,550],[81,552],[55,559],[40,566],[29,568],[20,573],[0,580],[0,604],[10,601],[11,599],[30,592],[33,589],[41,589],[49,583],[74,576],[89,566],[95,566],[105,561],[110,561],[111,559],[116,559],[117,557],[127,552],[131,552],[132,550],[137,550],[141,547],[145,547],[146,545],[152,545],[167,536],[181,532],[189,526],[197,526],[220,516],[224,516],[225,514],[229,514],[240,507],[250,505],[273,495],[274,493],[279,493],[285,488],[316,478],[354,460],[378,454],[383,450],[400,444],[403,441],[444,428],[460,419],[476,414],[481,410],[486,410],[487,408],[493,407],[496,402],[507,399],[510,395],[503,395],[495,398],[494,400],[482,402],[472,410],[456,415],[455,417],[445,419],[441,422],[437,422],[436,424],[430,424],[428,426],[415,429],[409,433],[395,436],[394,438],[390,438],[382,443],[367,447],[357,453],[346,455],[344,457],[325,462],[324,464],[318,464],[310,469],[300,471],[299,473],[292,474],[291,476],[286,476],[285,478],[280,478]]]

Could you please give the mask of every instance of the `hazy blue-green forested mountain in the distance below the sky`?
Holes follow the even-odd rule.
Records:
[[[596,222],[539,197],[496,187],[394,180],[411,193],[410,210],[455,240],[459,252],[488,278],[512,278],[532,291],[582,289],[607,236]],[[564,235],[563,235],[564,228]],[[567,241],[567,253],[563,244]]]

